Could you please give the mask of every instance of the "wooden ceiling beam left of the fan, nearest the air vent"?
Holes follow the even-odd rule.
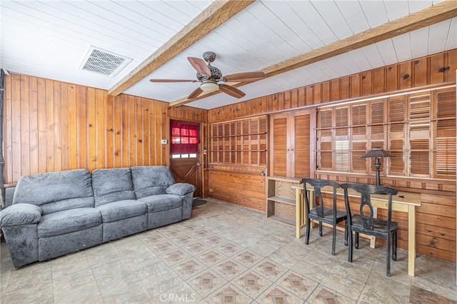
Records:
[[[176,33],[169,41],[155,51],[151,56],[144,60],[139,66],[133,69],[129,74],[122,78],[112,88],[108,90],[111,96],[118,96],[127,88],[151,74],[156,69],[166,64],[181,54],[196,41],[203,38],[221,24],[224,24],[238,12],[246,9],[255,0],[216,0],[204,11],[202,11],[189,24],[184,26],[181,31]]]

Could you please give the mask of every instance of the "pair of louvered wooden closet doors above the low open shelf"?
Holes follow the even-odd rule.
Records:
[[[269,175],[310,177],[314,172],[316,111],[303,110],[270,117]]]

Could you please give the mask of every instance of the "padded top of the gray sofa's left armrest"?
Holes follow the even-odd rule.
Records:
[[[16,203],[0,212],[0,227],[35,224],[41,220],[41,208],[29,203]]]

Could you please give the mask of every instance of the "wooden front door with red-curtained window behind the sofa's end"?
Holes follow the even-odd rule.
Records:
[[[196,186],[194,197],[202,196],[201,140],[199,123],[170,121],[170,169],[176,183]]]

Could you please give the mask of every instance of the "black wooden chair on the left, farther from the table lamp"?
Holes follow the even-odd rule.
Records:
[[[336,224],[346,221],[346,212],[336,210],[336,188],[340,185],[334,181],[326,181],[323,179],[316,178],[302,178],[303,182],[303,196],[305,197],[305,209],[306,209],[306,237],[305,243],[308,245],[309,242],[309,227],[311,220],[319,222],[319,235],[322,236],[322,223],[328,223],[333,226],[333,239],[331,244],[331,254],[335,255],[335,240],[336,240]],[[313,208],[310,210],[310,204],[308,199],[308,193],[306,192],[306,183],[313,186]],[[333,206],[331,208],[325,207],[323,204],[323,198],[321,188],[325,186],[331,186],[333,188]],[[348,231],[346,225],[344,226],[344,245],[348,244]]]

